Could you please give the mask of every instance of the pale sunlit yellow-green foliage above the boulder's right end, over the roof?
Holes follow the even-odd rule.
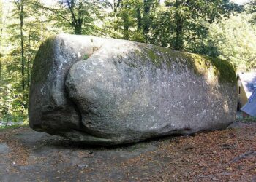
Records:
[[[255,68],[256,30],[250,19],[250,15],[239,14],[221,17],[208,25],[208,36],[200,53],[227,59],[238,71]]]

